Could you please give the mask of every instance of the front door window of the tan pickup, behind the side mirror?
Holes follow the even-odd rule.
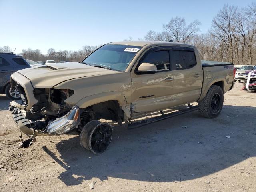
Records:
[[[170,70],[169,51],[156,51],[147,54],[140,63],[150,63],[156,65],[157,71]]]

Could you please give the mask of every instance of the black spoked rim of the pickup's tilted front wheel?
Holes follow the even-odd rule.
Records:
[[[112,126],[110,124],[99,124],[91,134],[90,148],[92,152],[100,154],[104,152],[111,142]]]

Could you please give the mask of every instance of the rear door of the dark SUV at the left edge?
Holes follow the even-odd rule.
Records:
[[[0,86],[2,87],[6,82],[10,81],[10,76],[13,71],[13,64],[8,62],[5,58],[0,57]]]

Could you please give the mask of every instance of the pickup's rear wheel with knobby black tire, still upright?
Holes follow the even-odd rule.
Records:
[[[198,102],[200,114],[207,118],[216,118],[223,107],[224,96],[220,86],[212,85],[204,99]]]

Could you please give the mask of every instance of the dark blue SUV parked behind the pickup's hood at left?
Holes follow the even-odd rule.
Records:
[[[10,76],[18,70],[29,67],[30,65],[24,60],[22,55],[0,53],[0,94],[6,94],[11,100],[20,99],[18,90],[16,88],[11,89]]]

